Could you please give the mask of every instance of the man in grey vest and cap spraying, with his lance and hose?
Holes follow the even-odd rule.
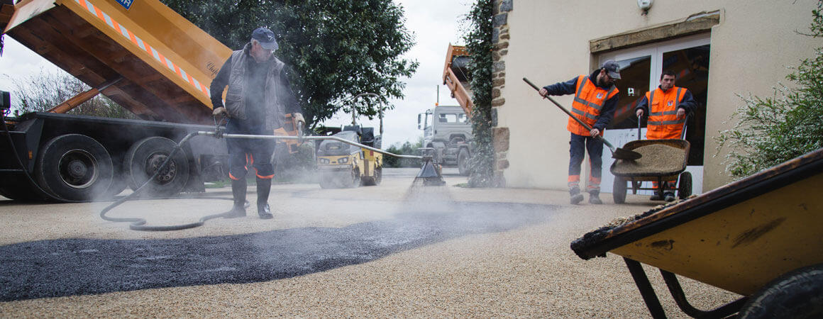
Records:
[[[178,146],[168,156],[171,158],[174,152],[179,151],[180,147],[194,135],[226,138],[226,147],[229,152],[229,178],[231,179],[233,198],[231,210],[221,214],[204,216],[195,223],[174,226],[145,226],[146,220],[143,219],[111,218],[105,215],[115,206],[119,206],[133,196],[137,196],[137,193],[141,192],[142,188],[146,187],[155,178],[152,177],[132,195],[115,201],[102,210],[100,217],[110,221],[133,222],[130,228],[135,230],[188,229],[198,227],[206,220],[214,218],[243,217],[246,215],[246,174],[249,173],[250,167],[254,169],[257,179],[258,216],[263,220],[272,219],[273,215],[268,204],[268,196],[271,192],[272,178],[274,178],[271,155],[277,139],[296,139],[300,141],[336,140],[385,155],[423,159],[421,172],[418,173],[412,187],[444,184],[439,164],[435,163],[430,155],[394,155],[384,150],[346,141],[337,136],[302,136],[302,124],[305,123],[305,119],[300,112],[300,105],[291,92],[288,77],[284,72],[286,69],[285,63],[274,57],[277,48],[277,40],[271,30],[265,27],[254,30],[249,43],[245,44],[243,49],[231,54],[230,58],[221,67],[220,72],[217,73],[214,81],[212,81],[210,90],[214,109],[213,115],[215,118],[225,117],[226,127],[218,126],[215,132],[189,134],[179,142]],[[222,95],[226,87],[228,89],[226,91],[226,104],[224,105]],[[283,127],[284,113],[293,114],[293,121],[298,123],[298,127],[300,127],[298,129],[299,136],[273,135],[274,130]],[[167,164],[161,164],[156,172],[160,173]]]

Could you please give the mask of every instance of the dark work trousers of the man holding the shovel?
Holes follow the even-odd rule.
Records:
[[[580,187],[580,164],[583,164],[588,150],[589,167],[586,192],[600,192],[601,169],[603,164],[603,142],[592,136],[571,134],[569,142],[569,189]]]

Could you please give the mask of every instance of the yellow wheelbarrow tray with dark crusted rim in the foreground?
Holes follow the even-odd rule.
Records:
[[[612,252],[630,270],[639,261],[748,296],[790,270],[823,263],[821,191],[823,149],[586,233],[571,248],[583,259]]]

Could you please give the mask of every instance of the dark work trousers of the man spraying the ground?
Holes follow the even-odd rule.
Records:
[[[266,130],[264,125],[244,125],[243,121],[230,119],[226,123],[226,134],[273,135],[272,130]],[[229,178],[240,180],[246,178],[249,166],[255,171],[258,178],[274,178],[274,140],[226,138],[226,148],[229,150]]]

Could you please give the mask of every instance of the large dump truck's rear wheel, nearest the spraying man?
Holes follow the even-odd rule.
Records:
[[[128,187],[137,190],[160,168],[177,143],[160,136],[146,137],[128,149],[124,161],[124,175]],[[188,181],[188,159],[179,150],[165,169],[146,186],[151,196],[172,196],[183,190]]]

